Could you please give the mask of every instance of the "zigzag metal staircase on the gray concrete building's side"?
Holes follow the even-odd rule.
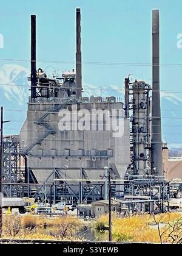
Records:
[[[61,104],[56,104],[55,107],[49,108],[49,110],[47,110],[47,112],[43,116],[41,116],[41,118],[39,118],[38,121],[35,122],[35,124],[43,126],[46,129],[46,132],[44,133],[44,135],[41,136],[41,138],[38,138],[36,141],[34,141],[32,144],[30,144],[30,146],[25,148],[24,151],[22,151],[22,154],[29,155],[31,157],[32,156],[32,154],[30,153],[31,149],[33,149],[36,145],[41,144],[42,141],[45,138],[47,138],[47,136],[49,136],[50,134],[53,135],[56,133],[56,130],[53,129],[53,127],[50,126],[47,123],[47,121],[45,121],[45,118],[47,118],[47,116],[49,116],[50,114],[58,113],[59,110],[64,108],[69,103],[70,103],[70,100],[67,99],[65,101],[62,101]]]

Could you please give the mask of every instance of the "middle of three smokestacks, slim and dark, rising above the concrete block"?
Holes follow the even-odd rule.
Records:
[[[76,9],[76,97],[81,97],[81,14]]]

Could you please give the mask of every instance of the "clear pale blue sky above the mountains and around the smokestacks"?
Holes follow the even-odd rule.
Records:
[[[151,84],[150,66],[88,65],[85,62],[151,63],[152,9],[160,9],[161,64],[182,63],[182,49],[177,48],[177,35],[182,33],[180,0],[1,0],[0,34],[4,36],[4,48],[0,49],[0,66],[20,65],[30,69],[29,61],[1,59],[30,59],[30,15],[36,14],[37,59],[45,61],[37,66],[46,68],[50,74],[53,69],[61,73],[74,68],[73,64],[49,61],[75,60],[76,7],[81,8],[84,84],[104,87],[107,93],[110,85],[123,88],[124,77],[129,73]],[[161,90],[181,90],[181,69],[161,67]],[[97,88],[94,90],[98,93]],[[178,93],[178,98],[181,95]],[[5,101],[3,104],[7,108]]]

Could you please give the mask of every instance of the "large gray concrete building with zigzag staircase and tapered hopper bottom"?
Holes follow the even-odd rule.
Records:
[[[130,159],[129,120],[124,118],[123,103],[116,102],[112,97],[79,98],[76,104],[66,98],[66,102],[64,104],[60,98],[29,99],[20,144],[22,152],[27,155],[27,168],[32,170],[36,181],[52,183],[53,179],[72,179],[67,182],[69,185],[76,179],[103,180],[104,166],[112,169],[113,178],[124,178]],[[55,111],[55,106],[59,113]],[[98,129],[99,122],[96,130],[92,130],[92,120],[89,120],[90,130],[59,130],[61,113],[70,113],[69,125],[73,126],[74,122],[79,124],[81,119],[79,110],[87,110],[93,116],[96,113],[102,115],[103,110],[108,110],[110,115],[112,110],[120,110],[123,126],[121,137],[114,137],[112,129],[106,130],[106,120],[103,121],[103,130]],[[112,122],[117,121],[116,116],[112,118]],[[72,190],[78,194],[78,187],[72,187]]]

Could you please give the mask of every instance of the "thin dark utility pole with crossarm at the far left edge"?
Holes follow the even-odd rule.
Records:
[[[1,107],[1,146],[0,146],[0,237],[2,235],[2,173],[3,173],[3,124],[8,123],[10,121],[3,121],[3,107]]]

